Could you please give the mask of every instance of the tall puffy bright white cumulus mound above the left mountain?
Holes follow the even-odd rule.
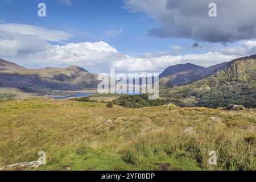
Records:
[[[44,67],[60,67],[61,65],[77,65],[95,71],[104,71],[108,64],[122,56],[117,50],[105,42],[69,43],[64,46],[50,48],[23,57],[24,64],[44,65]]]

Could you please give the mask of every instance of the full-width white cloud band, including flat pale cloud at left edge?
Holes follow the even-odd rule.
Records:
[[[204,67],[230,61],[256,51],[256,41],[204,54],[172,55],[170,52],[145,53],[129,56],[105,42],[62,42],[72,34],[27,24],[0,24],[0,58],[14,61],[28,68],[63,67],[77,65],[92,72],[161,72],[170,65],[194,63]],[[180,48],[174,46],[173,48]]]

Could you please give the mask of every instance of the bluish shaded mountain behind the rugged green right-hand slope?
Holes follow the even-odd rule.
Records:
[[[200,67],[191,63],[174,65],[165,69],[163,73],[159,75],[159,83],[167,88],[188,84],[207,77],[226,66],[227,63],[221,63],[209,68]]]

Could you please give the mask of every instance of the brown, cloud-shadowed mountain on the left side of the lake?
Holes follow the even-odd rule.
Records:
[[[0,87],[18,88],[25,92],[48,90],[79,90],[97,88],[97,74],[83,68],[26,69],[9,61],[0,60]]]

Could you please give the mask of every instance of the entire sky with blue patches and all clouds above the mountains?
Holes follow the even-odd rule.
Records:
[[[217,16],[210,17],[209,4]],[[39,3],[46,17],[39,17]],[[0,59],[89,72],[203,67],[256,53],[255,0],[0,0]]]

